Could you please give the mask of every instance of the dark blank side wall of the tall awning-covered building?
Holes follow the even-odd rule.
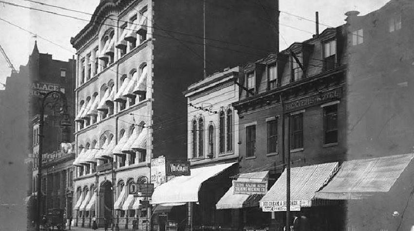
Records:
[[[265,9],[275,9],[276,1],[262,2]],[[155,1],[153,11],[153,111],[158,115],[153,118],[153,129],[163,131],[154,132],[153,153],[184,157],[187,123],[180,118],[186,118],[187,105],[182,92],[200,80],[194,76],[203,76],[203,1]],[[207,74],[258,59],[275,49],[274,24],[269,18],[264,20],[263,14],[276,18],[275,11],[264,13],[260,4],[249,0],[206,1]],[[194,36],[165,31],[171,28]]]

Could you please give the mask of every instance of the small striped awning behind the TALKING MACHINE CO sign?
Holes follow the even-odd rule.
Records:
[[[269,171],[242,173],[237,180],[262,182],[268,178]],[[217,209],[241,209],[245,207],[259,206],[259,201],[263,195],[233,194],[234,185],[220,198],[216,204]]]

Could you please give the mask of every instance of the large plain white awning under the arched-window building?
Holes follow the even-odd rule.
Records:
[[[151,197],[151,204],[198,202],[198,191],[202,183],[234,164],[236,162],[191,169],[190,176],[176,177],[156,187]]]

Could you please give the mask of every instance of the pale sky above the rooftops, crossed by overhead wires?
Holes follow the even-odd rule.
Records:
[[[37,41],[40,53],[50,53],[53,55],[53,59],[58,60],[68,60],[75,55],[75,49],[70,44],[70,38],[75,36],[88,23],[91,18],[90,15],[45,6],[29,0],[3,1],[84,19],[67,18],[0,2],[0,19],[7,20],[38,35]],[[35,1],[89,14],[94,12],[99,3],[99,0]],[[283,50],[293,42],[306,40],[315,34],[315,23],[303,18],[314,20],[316,11],[319,12],[320,32],[322,32],[327,26],[336,27],[343,24],[346,18],[344,13],[347,11],[358,10],[361,13],[360,15],[365,15],[380,8],[388,1],[280,0],[280,49]],[[40,37],[53,41],[59,46]],[[20,65],[27,64],[29,54],[33,50],[34,41],[35,37],[33,35],[0,20],[0,45],[17,70],[19,70]],[[5,83],[10,71],[4,57],[0,57],[0,83]],[[1,87],[0,85],[0,89]]]

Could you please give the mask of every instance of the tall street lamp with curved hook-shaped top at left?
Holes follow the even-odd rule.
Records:
[[[52,102],[46,102],[46,99],[51,98]],[[60,102],[62,101],[62,102]],[[38,222],[36,224],[36,230],[40,231],[40,221],[41,221],[41,199],[42,199],[42,193],[41,193],[41,172],[42,172],[42,154],[43,154],[43,124],[44,124],[44,108],[45,103],[49,104],[49,106],[53,107],[59,107],[60,112],[63,115],[63,119],[61,121],[62,131],[65,133],[68,131],[70,126],[70,120],[69,115],[67,114],[68,111],[68,103],[66,100],[66,96],[61,91],[49,91],[47,93],[43,94],[43,98],[41,100],[40,105],[40,118],[39,118],[39,151],[38,151],[38,185],[37,185],[37,191],[38,191]],[[52,104],[53,103],[53,104]],[[60,105],[62,103],[62,105]],[[53,108],[57,109],[57,108]],[[65,142],[69,142],[69,137],[62,136],[62,140]]]

